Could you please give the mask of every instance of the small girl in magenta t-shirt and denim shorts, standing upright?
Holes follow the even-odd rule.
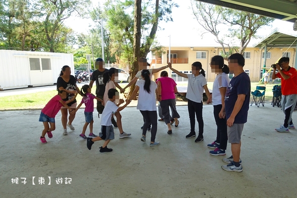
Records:
[[[86,123],[83,127],[83,132],[82,134],[79,135],[79,137],[81,137],[82,139],[87,139],[85,133],[87,130],[88,125],[90,124],[90,134],[89,137],[97,137],[94,133],[93,133],[93,111],[94,111],[94,99],[97,99],[99,101],[102,102],[102,104],[104,105],[104,101],[102,99],[99,99],[98,97],[94,96],[91,93],[91,87],[89,85],[84,85],[81,89],[81,94],[83,96],[83,99],[81,101],[81,103],[77,106],[77,108],[75,109],[75,111],[77,111],[83,103],[85,103],[86,108],[85,108],[85,119],[86,119]]]

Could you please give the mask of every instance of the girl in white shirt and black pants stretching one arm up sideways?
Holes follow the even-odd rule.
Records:
[[[192,138],[196,136],[195,132],[195,114],[197,117],[199,132],[198,137],[195,140],[196,143],[202,142],[203,138],[203,118],[202,118],[202,107],[203,107],[203,91],[208,99],[210,99],[210,93],[207,88],[207,82],[205,78],[205,72],[202,69],[202,64],[200,62],[194,62],[192,64],[192,74],[185,74],[177,71],[172,68],[171,63],[168,63],[168,66],[174,71],[177,75],[184,78],[188,78],[188,89],[186,98],[188,99],[188,111],[190,117],[191,131],[186,136],[186,138]],[[211,100],[211,99],[210,99]]]

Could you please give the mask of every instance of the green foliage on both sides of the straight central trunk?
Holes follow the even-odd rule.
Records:
[[[171,8],[178,7],[173,0],[142,1],[141,57],[146,57],[154,42],[159,21],[172,21]],[[134,0],[107,0],[103,16],[110,32],[111,53],[120,64],[132,67],[134,34]]]

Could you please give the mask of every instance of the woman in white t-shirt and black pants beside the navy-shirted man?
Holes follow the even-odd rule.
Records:
[[[212,87],[212,105],[215,123],[217,125],[216,140],[207,145],[209,148],[215,148],[209,151],[211,155],[225,155],[228,136],[227,120],[225,117],[225,94],[229,86],[229,67],[224,64],[224,58],[220,55],[213,56],[210,62],[211,72],[217,74]],[[209,102],[209,100],[207,100]]]

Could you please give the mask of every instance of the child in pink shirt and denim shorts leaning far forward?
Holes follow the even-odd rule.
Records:
[[[48,143],[45,138],[46,133],[48,134],[49,138],[52,138],[51,132],[55,130],[54,117],[56,116],[56,114],[62,106],[65,106],[71,113],[74,113],[73,110],[67,104],[75,100],[76,96],[77,93],[74,95],[72,99],[63,101],[63,99],[66,99],[67,93],[64,90],[58,91],[58,94],[54,96],[52,99],[50,99],[46,106],[41,110],[39,121],[43,122],[45,127],[40,137],[41,143]]]

